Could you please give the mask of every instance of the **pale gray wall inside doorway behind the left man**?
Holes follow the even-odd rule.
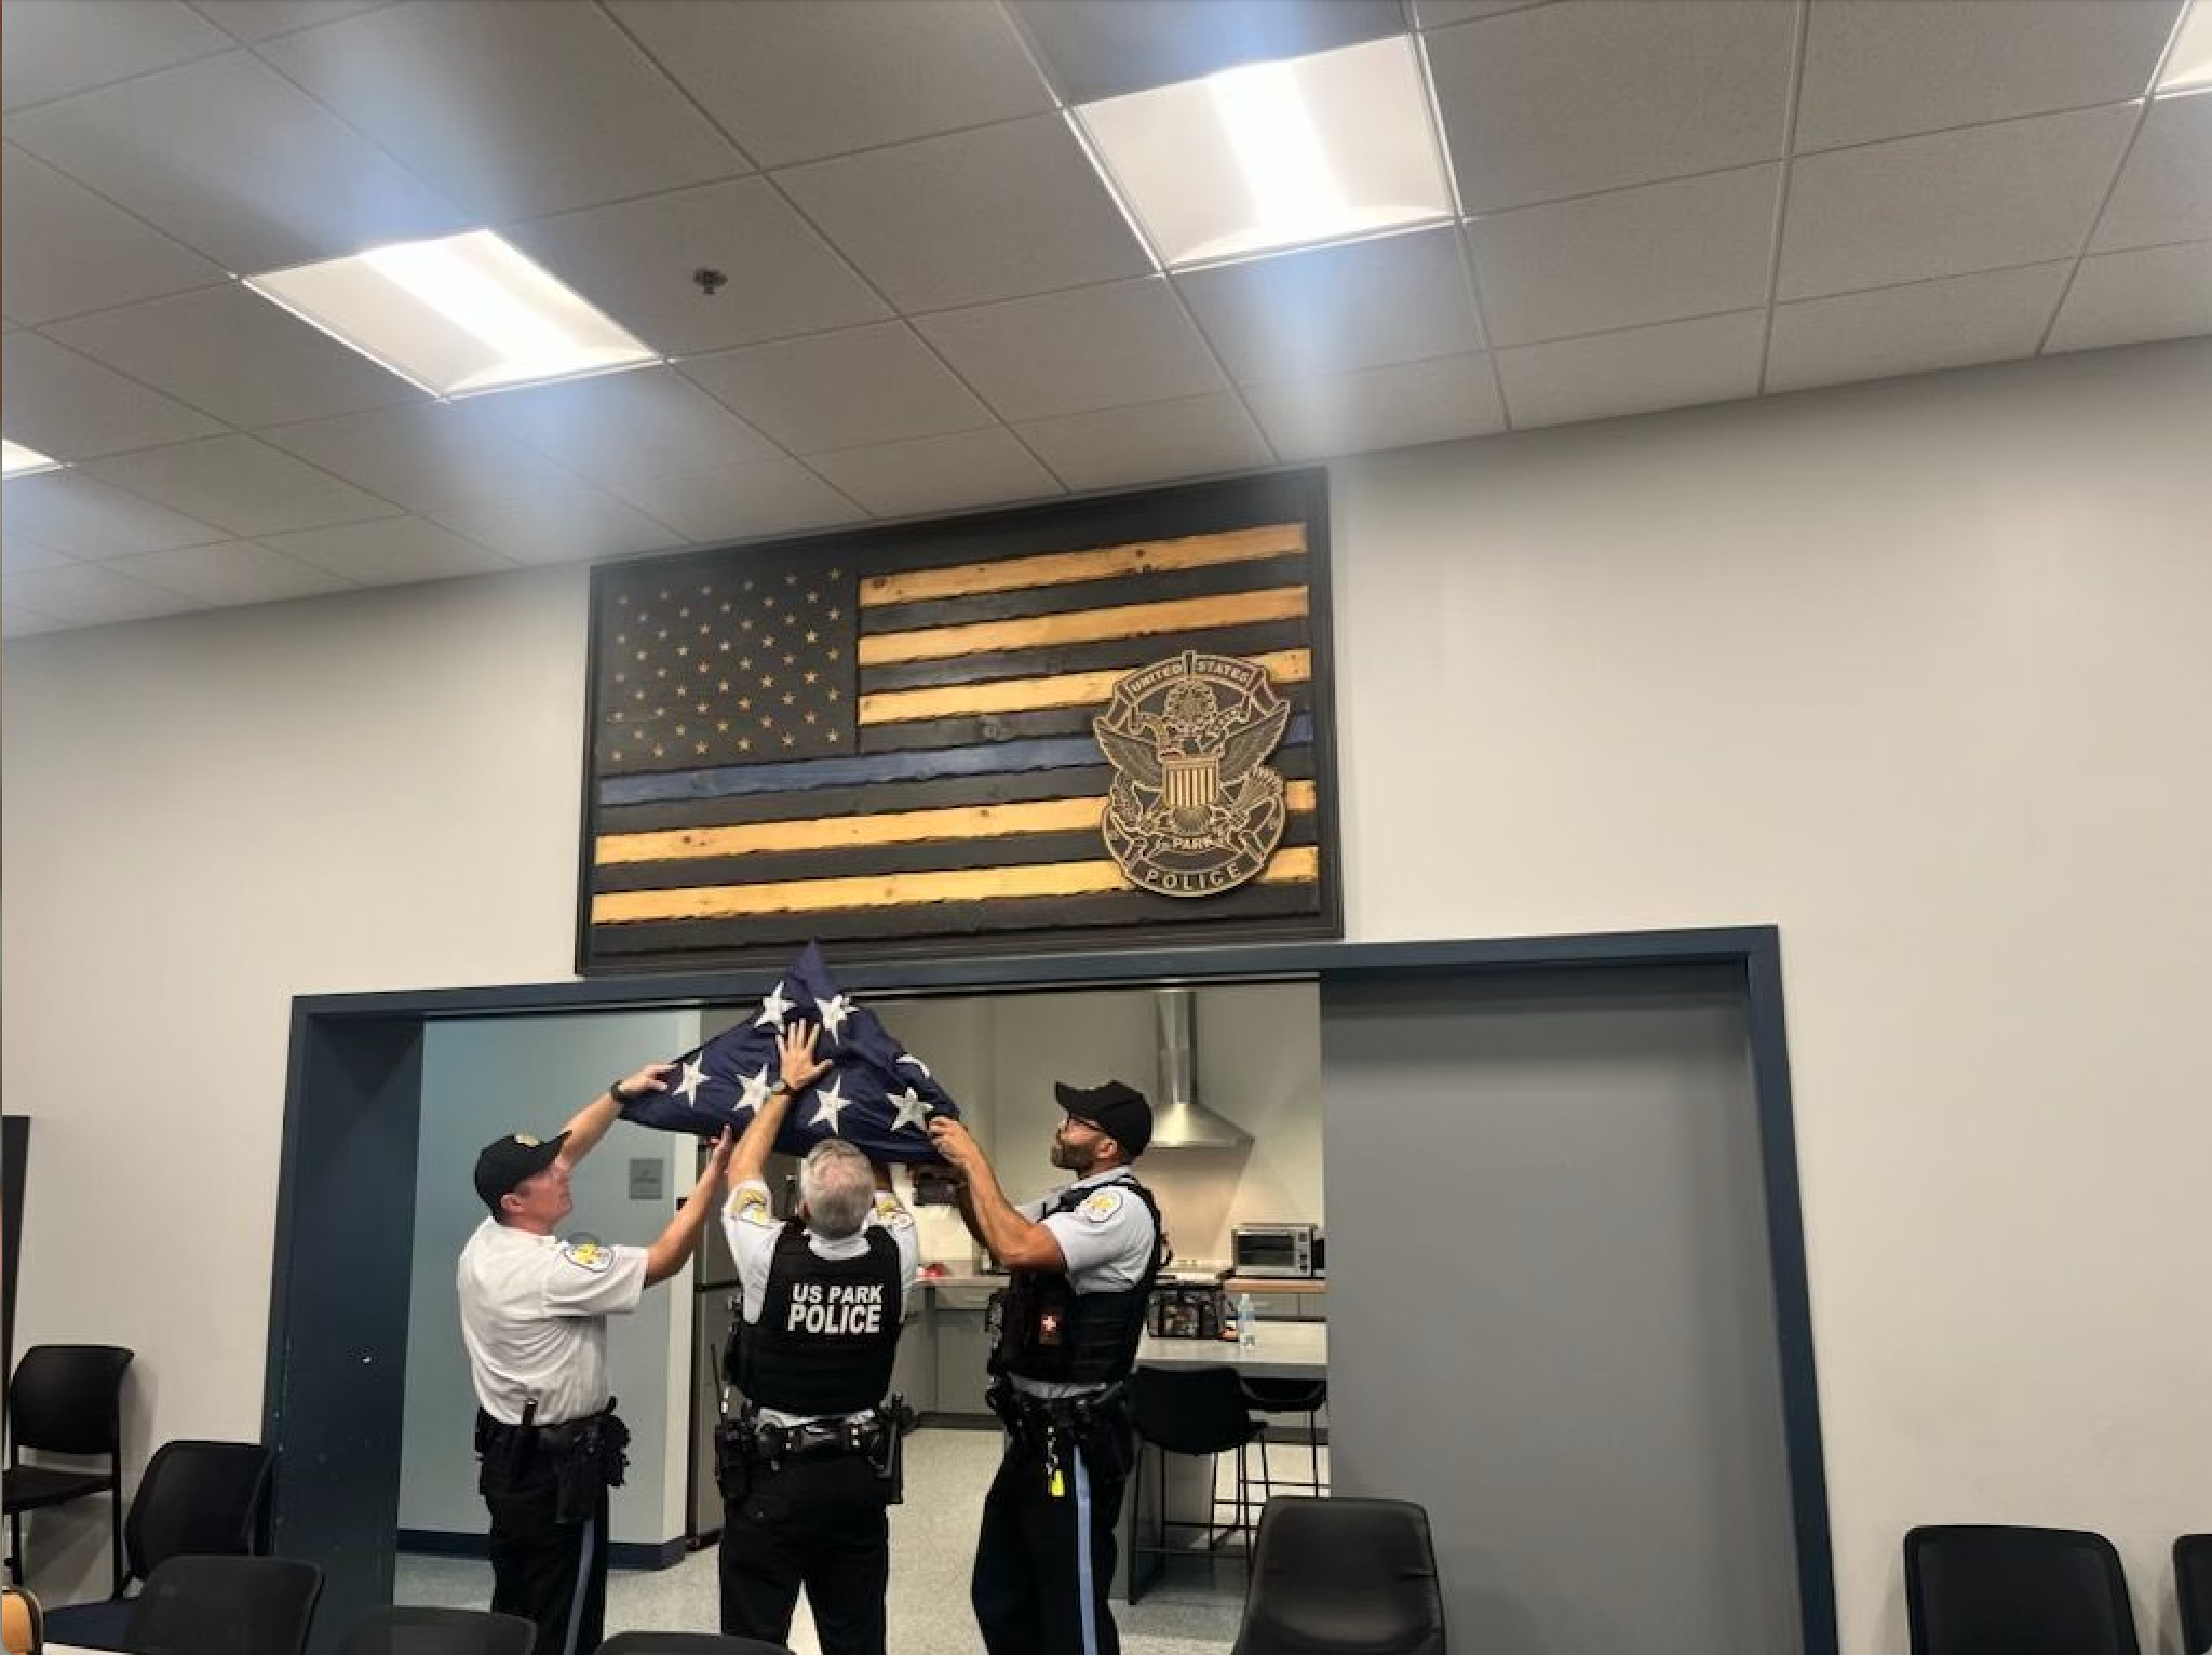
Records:
[[[699,1042],[697,1011],[491,1018],[434,1022],[422,1040],[422,1139],[416,1170],[414,1301],[407,1325],[407,1423],[400,1445],[400,1529],[482,1533],[476,1496],[476,1394],[460,1343],[453,1266],[484,1217],[469,1170],[500,1133],[551,1137],[608,1080]],[[633,1201],[633,1162],[661,1170],[661,1199]],[[564,1235],[653,1241],[697,1173],[695,1139],[617,1124],[575,1173]],[[646,1288],[630,1316],[608,1323],[608,1372],[630,1427],[630,1471],[611,1507],[615,1542],[661,1544],[684,1533],[690,1272]]]

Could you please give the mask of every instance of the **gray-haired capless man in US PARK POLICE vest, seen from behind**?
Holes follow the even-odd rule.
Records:
[[[885,1655],[900,1420],[885,1405],[914,1288],[914,1215],[891,1175],[830,1137],[776,1224],[761,1177],[790,1100],[827,1073],[816,1031],[779,1038],[783,1078],[730,1157],[723,1232],[743,1283],[730,1378],[745,1409],[717,1434],[721,1631],[790,1640],[805,1586],[823,1655]]]

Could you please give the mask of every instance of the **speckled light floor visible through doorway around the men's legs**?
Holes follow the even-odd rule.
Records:
[[[891,1509],[891,1655],[980,1655],[967,1580],[998,1449],[995,1432],[920,1429],[909,1438],[907,1498]],[[1303,1454],[1298,1458],[1303,1471]],[[1177,1560],[1135,1609],[1115,1604],[1121,1648],[1126,1655],[1221,1655],[1237,1640],[1243,1589],[1241,1558]],[[473,1560],[403,1555],[396,1597],[480,1609],[491,1600],[491,1571]],[[675,1569],[615,1573],[606,1591],[606,1631],[714,1631],[717,1604],[714,1553],[701,1551]],[[792,1624],[792,1648],[821,1655],[805,1597]]]

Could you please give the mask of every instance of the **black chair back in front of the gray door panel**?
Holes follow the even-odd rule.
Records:
[[[1429,1513],[1411,1500],[1285,1493],[1259,1516],[1230,1655],[1444,1655]]]

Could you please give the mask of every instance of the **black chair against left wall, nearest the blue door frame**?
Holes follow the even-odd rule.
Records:
[[[270,1451],[259,1443],[164,1443],[146,1460],[124,1516],[124,1589],[170,1558],[254,1551]],[[133,1600],[117,1593],[100,1604],[73,1604],[46,1615],[58,1644],[124,1648]]]

